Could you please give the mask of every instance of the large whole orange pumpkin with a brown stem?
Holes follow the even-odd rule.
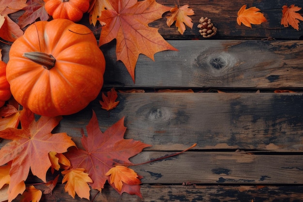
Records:
[[[93,33],[67,19],[38,21],[9,52],[6,77],[15,100],[36,114],[84,109],[103,85],[105,58]]]

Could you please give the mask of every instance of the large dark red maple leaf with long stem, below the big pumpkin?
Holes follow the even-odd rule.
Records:
[[[132,164],[129,158],[140,153],[145,147],[151,145],[136,140],[123,139],[126,127],[123,125],[124,117],[101,132],[95,112],[87,125],[87,134],[82,134],[82,145],[85,150],[72,147],[66,153],[71,162],[71,168],[84,168],[89,173],[93,183],[89,183],[93,189],[101,190],[110,177],[106,173],[113,168],[113,164]],[[115,187],[114,187],[115,188]],[[127,192],[141,197],[140,185],[123,185],[119,193]]]

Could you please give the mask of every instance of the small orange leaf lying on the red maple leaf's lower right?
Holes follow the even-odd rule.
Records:
[[[118,191],[122,190],[123,183],[127,185],[140,185],[141,181],[137,173],[125,166],[116,166],[106,172],[110,176],[109,184],[114,184]],[[122,183],[123,182],[123,183]]]

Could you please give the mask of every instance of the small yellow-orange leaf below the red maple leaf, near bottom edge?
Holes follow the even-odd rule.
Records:
[[[61,172],[64,177],[62,179],[62,184],[67,182],[64,189],[75,199],[77,195],[82,199],[90,200],[90,187],[87,183],[92,183],[91,178],[88,173],[84,172],[84,169],[72,169]]]

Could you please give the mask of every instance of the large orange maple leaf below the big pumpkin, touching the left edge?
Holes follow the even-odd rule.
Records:
[[[75,146],[66,133],[51,133],[60,120],[61,116],[41,116],[36,122],[34,114],[23,109],[20,112],[21,129],[0,131],[0,138],[12,140],[0,149],[0,165],[12,160],[10,192],[27,179],[30,170],[45,182],[46,171],[51,166],[48,153],[64,153],[68,147]]]

